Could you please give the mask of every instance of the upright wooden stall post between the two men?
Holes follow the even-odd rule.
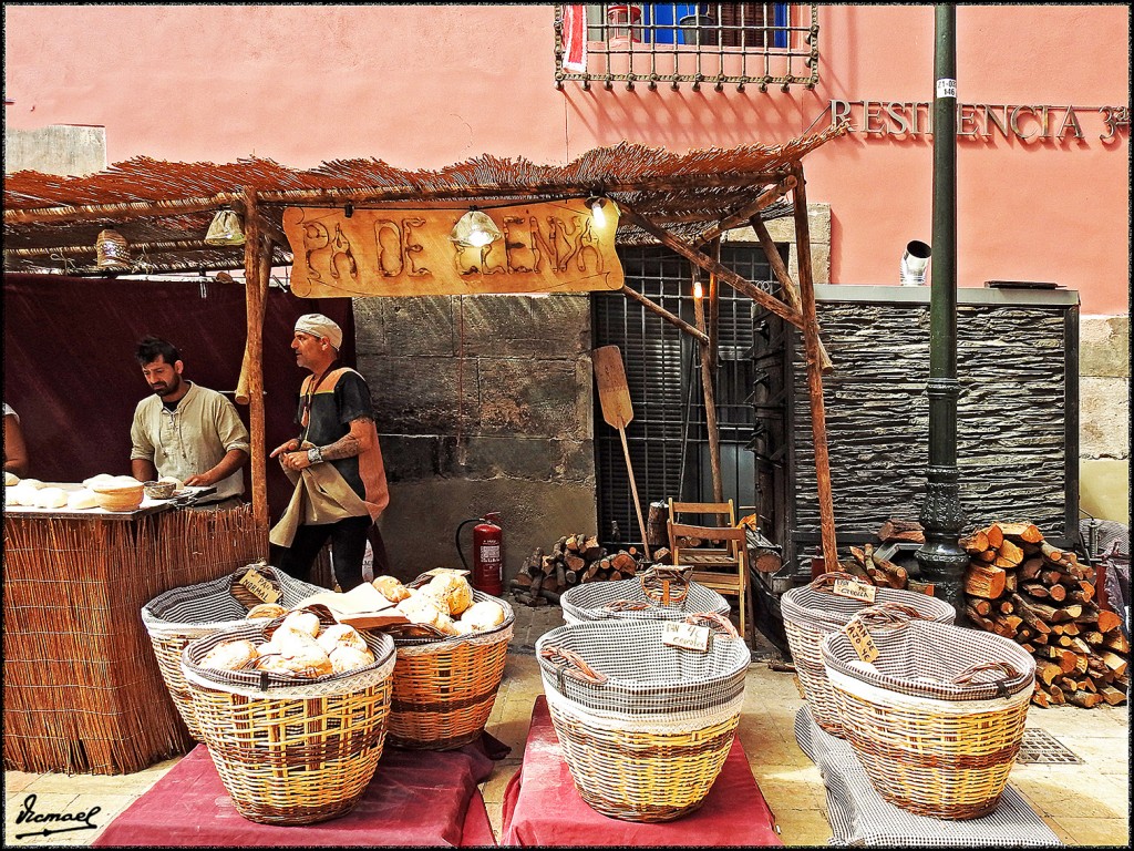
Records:
[[[268,554],[268,450],[264,436],[264,312],[261,303],[261,261],[263,245],[260,238],[260,217],[256,210],[256,191],[244,187],[244,295],[247,319],[248,359],[248,423],[252,437],[252,514],[263,536],[263,553]],[[269,272],[271,270],[269,269]],[[264,290],[266,295],[266,288]]]

